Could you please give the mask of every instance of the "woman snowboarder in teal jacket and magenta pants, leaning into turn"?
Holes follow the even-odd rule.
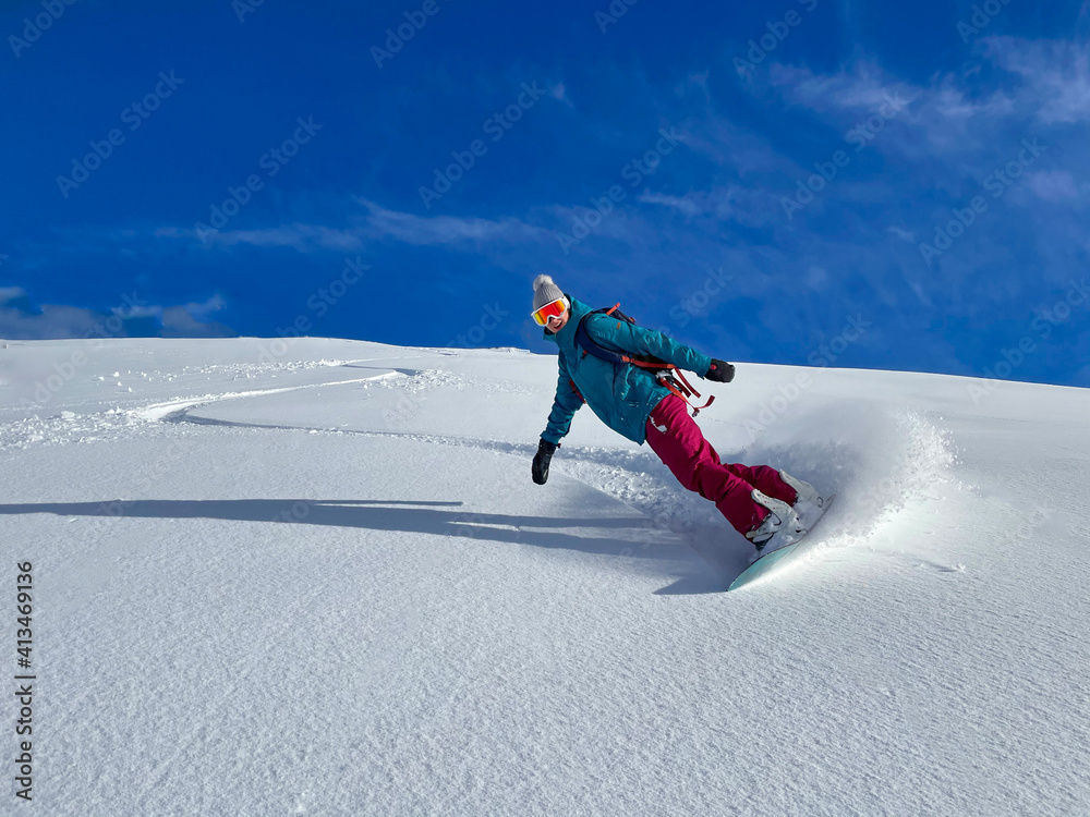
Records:
[[[585,402],[618,434],[640,444],[647,442],[678,481],[715,502],[759,554],[795,541],[821,515],[823,500],[808,483],[767,465],[720,462],[678,390],[655,377],[655,369],[627,356],[657,359],[723,383],[735,376],[729,363],[702,355],[662,332],[594,310],[565,294],[549,276],[534,280],[532,316],[544,327],[545,338],[560,349],[556,397],[533,462],[537,485],[548,479],[549,461]],[[606,354],[598,356],[603,350]],[[620,354],[606,359],[609,353]],[[630,362],[617,359],[620,356]]]

